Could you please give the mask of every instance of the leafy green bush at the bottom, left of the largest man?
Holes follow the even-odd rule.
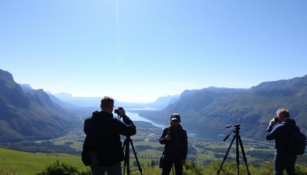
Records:
[[[45,169],[38,170],[36,175],[91,175],[90,169],[79,169],[77,165],[56,160],[53,164],[48,164]]]

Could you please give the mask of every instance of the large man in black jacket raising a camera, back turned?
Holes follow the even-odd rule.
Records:
[[[85,119],[86,137],[82,161],[87,166],[91,165],[92,175],[104,175],[105,172],[108,175],[120,175],[121,162],[124,161],[120,135],[135,135],[136,128],[122,107],[119,107],[118,111],[123,122],[113,118],[112,97],[103,97],[100,108],[101,111],[95,111],[91,117]]]

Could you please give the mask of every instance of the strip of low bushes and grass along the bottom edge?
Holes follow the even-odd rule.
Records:
[[[217,170],[220,169],[221,161],[214,161],[208,165],[196,165],[193,160],[186,163],[183,169],[184,175],[216,175]],[[266,162],[261,167],[257,168],[253,165],[249,165],[249,172],[252,175],[271,175],[273,174],[273,162]],[[142,173],[144,175],[157,175],[161,174],[160,168],[158,166],[142,167]],[[306,175],[307,166],[306,165],[295,165],[295,172],[297,175]],[[140,175],[140,171],[132,171],[131,175]],[[235,161],[226,162],[223,164],[220,171],[220,175],[236,175],[237,174],[237,164]],[[239,174],[247,174],[247,168],[245,165],[239,166]],[[0,167],[0,175],[21,175],[16,169],[5,169]],[[91,175],[91,170],[89,168],[80,168],[76,164],[69,164],[68,162],[56,162],[48,164],[44,169],[39,169],[36,171],[36,175]]]

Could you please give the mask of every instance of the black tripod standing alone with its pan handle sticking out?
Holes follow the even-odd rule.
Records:
[[[236,125],[234,125],[234,127],[235,127],[235,129],[234,130],[232,130],[234,133],[235,133],[235,135],[233,136],[233,139],[232,139],[232,141],[231,141],[231,143],[230,143],[230,145],[229,145],[229,147],[228,147],[228,150],[227,150],[227,152],[226,152],[226,154],[225,154],[225,157],[223,158],[223,162],[222,162],[222,164],[221,164],[221,166],[220,166],[220,169],[217,171],[217,175],[219,175],[219,173],[220,173],[220,171],[221,171],[221,169],[222,169],[222,166],[223,166],[223,164],[224,164],[224,162],[225,162],[225,160],[226,160],[226,158],[227,158],[227,154],[228,154],[228,152],[229,152],[229,150],[230,150],[230,148],[231,148],[231,145],[232,145],[232,143],[233,143],[233,141],[235,140],[235,143],[236,143],[236,161],[237,161],[237,170],[238,170],[238,175],[239,175],[239,164],[240,164],[240,161],[242,161],[242,160],[239,160],[239,142],[240,142],[240,146],[241,146],[241,151],[242,151],[242,154],[243,154],[243,159],[244,159],[244,162],[245,162],[245,165],[246,165],[246,169],[247,169],[247,173],[248,173],[248,175],[251,175],[251,173],[248,171],[248,166],[247,166],[247,160],[246,160],[246,156],[245,156],[245,152],[244,152],[244,149],[243,149],[243,144],[242,144],[242,140],[241,140],[241,137],[240,137],[240,135],[239,135],[239,130],[240,130],[240,124],[236,124]],[[227,127],[232,127],[232,126],[226,126],[226,128]],[[229,135],[232,133],[232,131],[225,137],[225,139],[223,140],[224,142],[225,142],[225,140],[229,137]],[[229,159],[232,159],[232,158],[229,158]],[[232,160],[235,160],[235,159],[232,159]]]

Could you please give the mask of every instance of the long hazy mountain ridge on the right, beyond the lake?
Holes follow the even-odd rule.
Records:
[[[215,90],[213,90],[215,89]],[[167,124],[172,113],[181,115],[181,124],[196,133],[227,135],[226,125],[240,124],[246,139],[266,141],[264,134],[276,111],[286,108],[301,132],[307,135],[307,75],[289,80],[262,82],[251,89],[216,88],[186,90],[181,99],[161,111],[138,111],[140,116]],[[275,125],[276,126],[276,125]]]

